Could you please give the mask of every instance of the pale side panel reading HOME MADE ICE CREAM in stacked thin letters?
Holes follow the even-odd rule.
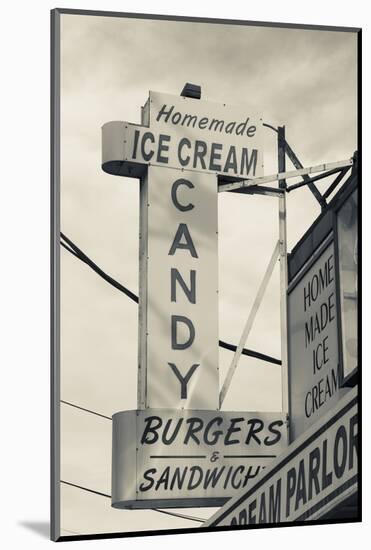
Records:
[[[331,242],[288,295],[291,440],[347,391],[340,388],[336,279]]]

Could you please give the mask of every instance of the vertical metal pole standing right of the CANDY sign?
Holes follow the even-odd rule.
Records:
[[[286,170],[286,139],[285,127],[278,127],[278,172]],[[280,189],[286,189],[286,180],[278,182]],[[282,411],[289,412],[289,380],[287,352],[287,220],[286,193],[278,199],[279,255],[280,255],[280,311],[281,311],[281,376],[282,376]]]

